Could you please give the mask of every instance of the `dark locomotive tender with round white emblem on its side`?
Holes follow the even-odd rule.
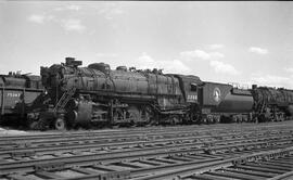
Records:
[[[251,90],[232,85],[204,82],[199,91],[200,107],[204,121],[251,121],[253,97]]]

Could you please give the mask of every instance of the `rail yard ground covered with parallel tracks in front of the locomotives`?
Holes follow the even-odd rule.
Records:
[[[293,120],[101,130],[0,129],[0,179],[293,179]]]

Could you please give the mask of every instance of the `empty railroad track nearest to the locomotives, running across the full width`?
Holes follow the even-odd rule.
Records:
[[[21,136],[2,136],[0,137],[0,143],[2,144],[11,142],[11,141],[48,141],[48,140],[68,140],[80,137],[93,136],[93,137],[109,137],[109,136],[127,136],[127,134],[136,134],[136,133],[163,133],[163,132],[171,132],[171,131],[213,131],[216,130],[273,130],[277,126],[278,129],[289,129],[288,126],[280,123],[270,123],[270,124],[217,124],[217,125],[191,125],[191,126],[177,126],[177,127],[144,127],[144,128],[127,128],[127,129],[106,129],[106,130],[90,130],[90,131],[51,131],[51,132],[36,132],[33,131],[31,134],[21,134]]]

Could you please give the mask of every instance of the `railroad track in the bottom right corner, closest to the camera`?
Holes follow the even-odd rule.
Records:
[[[284,180],[285,178],[292,178],[292,146],[263,151],[251,155],[177,168],[168,172],[154,172],[132,179],[162,180],[176,177],[180,180]],[[88,178],[85,177],[85,179]]]

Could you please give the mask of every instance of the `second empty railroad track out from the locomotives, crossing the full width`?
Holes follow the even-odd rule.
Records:
[[[245,132],[238,131],[227,132],[215,130],[213,133],[206,131],[196,131],[196,132],[187,132],[187,131],[177,131],[173,133],[158,133],[157,134],[132,134],[129,137],[111,137],[111,138],[99,138],[99,137],[82,137],[80,140],[66,140],[66,141],[41,141],[34,142],[29,145],[3,145],[0,149],[0,158],[20,158],[22,156],[33,156],[33,155],[55,155],[62,153],[72,153],[75,151],[79,152],[92,152],[92,151],[107,151],[111,150],[129,150],[137,146],[162,146],[165,144],[187,144],[193,143],[198,146],[208,145],[212,143],[233,143],[234,141],[250,142],[250,141],[269,141],[273,139],[290,138],[292,137],[291,130],[282,130],[281,132],[267,131],[267,130],[257,130],[252,131],[247,130]],[[256,138],[257,137],[257,138]]]

